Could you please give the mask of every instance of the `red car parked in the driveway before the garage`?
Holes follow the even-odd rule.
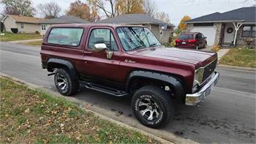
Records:
[[[176,48],[206,48],[206,37],[200,32],[184,32],[178,35],[176,39]]]

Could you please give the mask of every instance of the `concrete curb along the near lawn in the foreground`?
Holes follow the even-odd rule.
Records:
[[[86,102],[81,102],[79,99],[75,99],[75,98],[72,98],[72,97],[61,96],[61,94],[57,93],[56,91],[51,91],[51,90],[49,90],[47,88],[44,88],[42,86],[37,86],[37,85],[35,85],[33,83],[29,83],[29,82],[26,82],[24,80],[20,80],[20,79],[18,79],[16,77],[12,77],[10,75],[6,75],[6,74],[1,73],[1,72],[0,72],[0,77],[9,77],[10,79],[14,80],[15,83],[24,84],[24,85],[28,86],[31,89],[39,90],[39,91],[44,91],[44,92],[46,92],[48,94],[53,94],[53,96],[64,98],[64,99],[68,100],[69,102],[75,102],[78,105],[87,105]],[[113,118],[109,118],[109,117],[107,117],[105,115],[102,115],[100,113],[97,113],[97,112],[95,112],[93,110],[89,110],[86,107],[82,107],[82,108],[84,110],[87,110],[87,111],[91,112],[91,113],[94,113],[94,115],[98,116],[99,118],[101,118],[103,120],[107,120],[107,121],[110,121],[110,122],[113,122],[113,123],[117,124],[118,126],[123,126],[124,128],[140,132],[141,134],[144,134],[144,135],[146,135],[148,137],[154,138],[155,140],[159,141],[160,143],[171,143],[171,144],[173,144],[173,143],[184,143],[184,144],[185,143],[197,143],[197,142],[195,142],[193,140],[185,139],[185,138],[182,138],[182,137],[177,137],[175,134],[173,134],[173,136],[172,136],[173,140],[170,140],[170,139],[169,140],[165,140],[162,137],[158,137],[158,136],[156,136],[154,134],[150,134],[149,132],[146,132],[146,131],[144,131],[142,129],[138,129],[138,128],[134,127],[134,126],[130,126],[129,124],[124,124],[124,123],[122,123],[120,121],[116,121]]]

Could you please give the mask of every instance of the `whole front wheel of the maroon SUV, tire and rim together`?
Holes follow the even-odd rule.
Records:
[[[141,124],[151,128],[164,126],[173,118],[170,96],[157,86],[144,86],[132,97],[132,109]]]

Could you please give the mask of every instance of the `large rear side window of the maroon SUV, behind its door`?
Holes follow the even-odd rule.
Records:
[[[50,30],[47,42],[50,44],[78,47],[82,35],[82,28],[53,28]]]

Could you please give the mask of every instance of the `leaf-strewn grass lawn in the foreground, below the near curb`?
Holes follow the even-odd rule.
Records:
[[[0,77],[0,143],[159,143]]]

